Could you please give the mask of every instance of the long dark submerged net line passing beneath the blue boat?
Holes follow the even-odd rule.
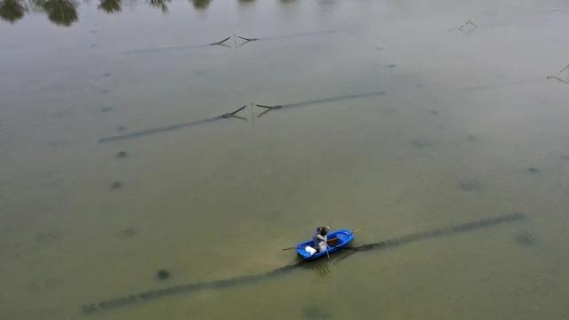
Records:
[[[451,227],[446,228],[437,228],[422,232],[413,233],[407,236],[400,236],[397,238],[392,238],[388,240],[384,240],[378,243],[372,244],[362,244],[357,247],[350,247],[346,248],[346,250],[342,250],[336,254],[331,256],[331,260],[344,260],[355,253],[361,252],[375,252],[387,249],[396,249],[405,244],[412,244],[420,241],[426,241],[429,239],[440,238],[445,236],[454,236],[462,233],[466,233],[469,231],[475,231],[482,228],[489,228],[498,226],[505,223],[512,223],[519,220],[524,220],[525,215],[522,213],[512,213],[512,214],[505,214],[485,220],[477,220],[471,221],[468,223],[454,225]],[[85,313],[93,313],[102,310],[109,310],[114,308],[123,308],[135,303],[144,302],[148,300],[156,300],[159,298],[165,298],[168,296],[178,295],[182,293],[190,293],[190,292],[199,292],[205,289],[224,289],[234,287],[236,285],[241,284],[255,284],[257,282],[267,280],[270,278],[284,276],[289,273],[292,273],[294,270],[298,270],[300,268],[309,268],[314,269],[318,268],[318,265],[315,264],[322,264],[327,263],[327,261],[314,261],[314,262],[303,262],[299,261],[281,268],[275,268],[273,270],[269,270],[264,273],[250,275],[250,276],[236,276],[227,279],[220,279],[210,282],[202,282],[202,283],[194,283],[194,284],[180,284],[171,286],[164,289],[158,290],[151,290],[148,292],[140,292],[131,294],[128,296],[124,296],[121,298],[110,299],[110,300],[103,300],[98,303],[90,303],[83,306],[83,310]],[[316,266],[316,267],[315,267]]]

